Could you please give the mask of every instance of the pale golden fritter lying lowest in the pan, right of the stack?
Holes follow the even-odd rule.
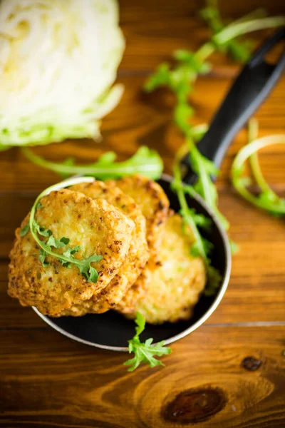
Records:
[[[182,234],[182,218],[175,214],[167,219],[165,238],[160,248],[162,266],[150,270],[147,294],[135,306],[150,324],[188,320],[206,284],[206,271],[201,258],[190,256],[192,240]],[[120,312],[124,312],[123,309]]]

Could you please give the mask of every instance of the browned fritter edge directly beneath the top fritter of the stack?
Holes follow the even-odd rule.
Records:
[[[107,287],[100,293],[94,295],[91,300],[74,305],[69,310],[65,310],[60,315],[81,316],[88,312],[101,313],[113,307],[122,300],[127,290],[137,280],[138,275],[145,267],[149,258],[147,241],[145,237],[145,217],[142,215],[140,207],[133,198],[125,195],[119,188],[95,181],[93,183],[80,183],[71,186],[70,190],[81,192],[92,199],[104,198],[111,205],[118,208],[135,223],[132,238],[130,241],[130,250],[122,267]]]

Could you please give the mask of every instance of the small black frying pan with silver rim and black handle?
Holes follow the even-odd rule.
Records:
[[[209,130],[199,141],[197,147],[199,151],[214,161],[219,167],[227,151],[229,143],[242,126],[248,121],[250,116],[269,95],[274,88],[281,73],[285,67],[285,54],[281,55],[278,63],[269,64],[264,60],[265,55],[279,41],[285,39],[285,29],[276,32],[274,36],[268,39],[252,59],[242,69],[237,79],[234,81],[232,88],[227,93],[222,105],[209,126]],[[195,174],[192,173],[191,166],[186,156],[182,163],[187,168],[185,182],[193,183]],[[170,199],[170,206],[173,210],[180,209],[177,196],[170,188],[172,178],[169,175],[162,175],[158,183],[167,193]],[[153,337],[154,342],[165,340],[166,344],[175,342],[175,340],[188,335],[207,318],[216,309],[222,300],[231,270],[231,253],[229,249],[229,240],[219,220],[212,211],[205,205],[202,198],[197,195],[195,198],[187,197],[190,207],[195,208],[197,213],[205,215],[212,220],[210,233],[203,232],[205,238],[214,244],[212,255],[212,265],[216,267],[222,275],[222,282],[213,297],[202,295],[197,303],[193,317],[188,321],[181,321],[175,324],[166,322],[163,325],[146,325],[142,333],[142,340]],[[125,318],[113,311],[105,312],[100,315],[85,315],[84,317],[61,317],[52,318],[41,315],[35,307],[33,310],[51,327],[63,335],[70,337],[78,342],[87,345],[102,347],[108,350],[127,351],[128,340],[133,337],[135,324],[133,321]]]

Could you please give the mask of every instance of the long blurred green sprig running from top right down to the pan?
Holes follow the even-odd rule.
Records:
[[[211,40],[207,41],[196,52],[187,50],[175,51],[173,54],[173,58],[176,61],[175,66],[171,67],[169,63],[162,63],[155,73],[148,78],[144,89],[146,92],[152,92],[157,88],[166,87],[175,95],[175,123],[185,135],[185,146],[190,152],[190,164],[192,165],[192,170],[197,174],[197,183],[192,186],[192,190],[202,196],[214,214],[217,215],[224,229],[228,230],[229,223],[219,211],[217,189],[212,183],[212,178],[216,177],[219,171],[211,161],[199,153],[195,146],[195,143],[203,135],[203,131],[207,130],[207,127],[202,126],[201,130],[199,130],[200,132],[197,133],[197,127],[192,126],[190,119],[195,110],[190,104],[189,96],[197,77],[207,73],[212,67],[206,60],[214,51],[232,54],[238,61],[247,61],[252,51],[252,44],[247,42],[240,43],[236,40],[237,36],[257,29],[283,26],[285,17],[266,17],[264,16],[265,12],[259,9],[252,14],[244,16],[242,19],[224,26],[215,1],[208,1],[208,6],[202,9],[200,14],[212,29]],[[190,187],[188,186],[187,189],[189,193]],[[237,245],[231,244],[232,250],[237,250]],[[202,255],[201,244],[197,243],[196,246],[199,247],[199,254]]]

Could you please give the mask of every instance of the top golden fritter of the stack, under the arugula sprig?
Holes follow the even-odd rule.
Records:
[[[16,230],[10,254],[9,295],[18,298],[21,305],[36,306],[43,314],[56,315],[90,299],[108,285],[128,255],[135,225],[106,200],[92,200],[71,190],[51,192],[41,199],[41,204],[36,210],[37,222],[50,229],[54,238],[68,238],[68,246],[80,245],[81,251],[74,257],[80,260],[94,253],[103,256],[92,263],[98,271],[98,281],[88,282],[78,267],[64,267],[53,256],[46,257],[50,264],[43,267],[38,260],[40,249],[31,232],[21,238],[20,228]],[[27,222],[28,215],[21,228]],[[66,248],[53,250],[63,253]]]

